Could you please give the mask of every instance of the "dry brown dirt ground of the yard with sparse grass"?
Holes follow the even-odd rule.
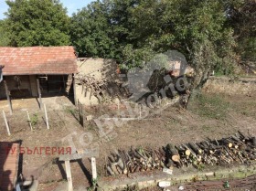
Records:
[[[23,147],[67,147],[67,136],[78,150],[99,149],[97,168],[100,176],[105,175],[106,157],[115,149],[134,147],[156,148],[167,143],[199,142],[207,137],[222,138],[240,130],[243,133],[256,135],[256,95],[204,94],[190,102],[187,110],[178,106],[155,107],[143,119],[128,122],[115,122],[103,125],[101,131],[95,122],[79,123],[78,110],[66,97],[43,99],[47,105],[49,130],[45,123],[44,112],[39,110],[36,99],[13,101],[14,114],[8,112],[6,101],[0,101],[0,110],[4,110],[10,125],[11,136],[7,136],[4,118],[0,117],[0,141],[21,141]],[[131,106],[133,108],[133,106]],[[118,110],[119,108],[119,110]],[[94,119],[139,117],[138,108],[129,113],[128,107],[101,105],[85,109],[85,115]],[[27,111],[33,121],[33,131],[27,122]],[[134,114],[135,113],[135,114]],[[108,116],[104,116],[104,115]],[[134,116],[132,116],[134,114]],[[142,111],[144,116],[144,112]],[[111,122],[111,121],[110,121]],[[105,133],[105,134],[104,134]],[[107,136],[106,136],[107,135]],[[108,137],[108,138],[106,138]],[[82,143],[81,143],[82,142]],[[58,162],[58,154],[23,154],[20,172],[27,178],[39,181],[38,190],[61,190],[66,184],[64,164]],[[84,158],[71,163],[71,173],[75,190],[85,190],[91,185],[90,159]]]

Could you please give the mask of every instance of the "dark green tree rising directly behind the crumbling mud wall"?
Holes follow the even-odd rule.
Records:
[[[80,56],[116,58],[131,35],[131,9],[137,0],[92,2],[71,17],[70,36]]]

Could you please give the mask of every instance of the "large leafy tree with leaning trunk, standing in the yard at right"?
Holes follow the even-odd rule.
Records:
[[[199,89],[213,69],[230,70],[235,65],[233,30],[225,25],[225,13],[222,1],[144,0],[133,9],[136,43],[126,54],[176,49],[196,69],[194,88]]]

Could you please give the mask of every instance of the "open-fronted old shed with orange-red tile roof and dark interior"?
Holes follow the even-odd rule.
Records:
[[[0,99],[70,94],[77,57],[73,47],[0,48]]]

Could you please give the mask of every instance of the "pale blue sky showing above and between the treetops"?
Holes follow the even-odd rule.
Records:
[[[81,7],[90,4],[93,0],[60,0],[60,2],[67,7],[69,16],[76,12]],[[0,19],[5,18],[4,13],[8,10],[8,5],[5,0],[0,0]]]

